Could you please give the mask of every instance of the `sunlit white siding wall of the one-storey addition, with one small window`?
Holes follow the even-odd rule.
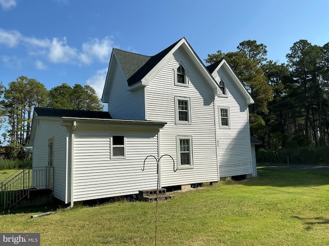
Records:
[[[77,127],[74,139],[74,201],[137,194],[157,188],[157,130]],[[111,135],[125,136],[124,159],[111,159]]]

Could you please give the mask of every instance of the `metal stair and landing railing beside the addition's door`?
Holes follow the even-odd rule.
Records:
[[[31,189],[52,189],[53,168],[24,168],[1,182],[1,203],[11,208],[25,197],[29,198]]]

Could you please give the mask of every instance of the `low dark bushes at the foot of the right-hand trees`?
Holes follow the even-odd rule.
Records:
[[[278,156],[273,150],[259,149],[256,153],[258,163],[289,163],[299,165],[329,165],[329,146],[294,147],[278,150]]]

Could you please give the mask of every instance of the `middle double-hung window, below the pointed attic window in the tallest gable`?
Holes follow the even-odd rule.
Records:
[[[176,124],[191,124],[191,105],[189,97],[175,97]]]

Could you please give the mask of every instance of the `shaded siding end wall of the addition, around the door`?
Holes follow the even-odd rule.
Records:
[[[59,120],[40,119],[36,126],[33,146],[33,168],[48,166],[48,144],[53,139],[53,193],[65,201],[66,190],[66,127]]]

